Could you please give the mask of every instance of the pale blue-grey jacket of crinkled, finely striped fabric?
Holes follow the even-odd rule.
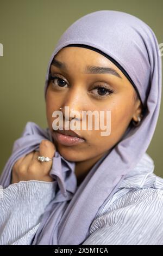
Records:
[[[83,245],[163,245],[163,179],[145,153],[99,208]],[[21,181],[0,193],[0,245],[30,245],[54,182]]]

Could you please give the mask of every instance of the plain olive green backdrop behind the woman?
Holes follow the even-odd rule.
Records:
[[[28,121],[47,127],[43,86],[49,58],[61,34],[79,17],[105,9],[139,17],[153,29],[159,44],[163,43],[162,0],[0,0],[0,43],[4,47],[0,57],[0,172]],[[162,108],[161,104],[147,152],[154,159],[155,174],[163,177]]]

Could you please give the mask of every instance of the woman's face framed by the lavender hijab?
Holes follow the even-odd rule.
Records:
[[[54,144],[65,159],[73,162],[99,158],[122,138],[131,119],[137,120],[141,112],[140,100],[135,99],[135,90],[121,70],[96,51],[83,47],[65,47],[54,59],[65,66],[61,67],[55,62],[51,64],[52,78],[49,79],[46,94],[47,122]],[[110,72],[92,67],[90,73],[87,68],[90,66],[110,68]],[[54,79],[55,76],[59,78]],[[52,113],[62,107],[64,114],[65,106],[69,107],[70,112],[75,110],[81,113],[76,120],[81,128],[74,129],[74,132],[84,138],[82,143],[67,146],[55,137],[52,123],[56,117],[52,117]],[[100,111],[104,111],[105,126],[108,124],[106,110],[110,111],[110,135],[103,136],[101,132],[104,130],[100,126],[99,129],[82,129],[82,111],[95,110],[99,115]],[[63,117],[65,127],[66,122],[70,122],[73,117],[68,118],[69,120],[65,115]],[[93,127],[95,128],[94,121]]]

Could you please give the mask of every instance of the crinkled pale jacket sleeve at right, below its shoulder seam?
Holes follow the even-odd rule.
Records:
[[[93,220],[84,245],[163,245],[163,189],[117,193]]]

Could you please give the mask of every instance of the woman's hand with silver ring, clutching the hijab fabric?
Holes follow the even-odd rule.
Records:
[[[52,160],[49,162],[40,162],[37,157],[45,156],[53,158],[56,148],[55,145],[49,140],[42,140],[40,143],[39,151],[33,151],[26,156],[18,159],[12,168],[12,183],[29,180],[39,181],[53,181],[54,179],[49,176],[49,171],[52,167]]]

